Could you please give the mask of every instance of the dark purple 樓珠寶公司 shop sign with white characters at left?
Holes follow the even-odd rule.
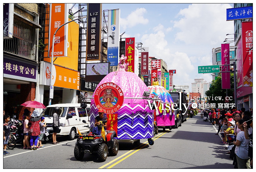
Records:
[[[37,82],[37,65],[24,62],[25,60],[20,62],[14,58],[3,58],[4,77]]]

